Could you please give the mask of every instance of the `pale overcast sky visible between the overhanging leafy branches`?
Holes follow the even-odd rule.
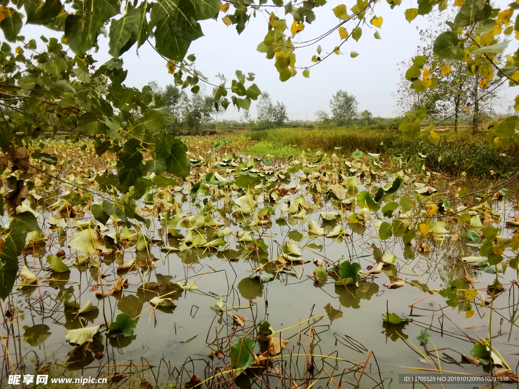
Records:
[[[495,2],[495,6],[506,7],[508,2],[509,0],[499,0]],[[339,19],[335,17],[332,9],[339,4],[341,2],[332,0],[324,7],[315,8],[316,20],[311,24],[305,23],[305,30],[296,35],[293,39],[294,43],[320,36],[335,26]],[[346,2],[348,8],[353,4],[351,0]],[[408,61],[416,55],[417,46],[420,44],[417,26],[423,29],[435,24],[422,16],[408,23],[404,11],[413,7],[417,7],[415,0],[403,0],[400,7],[394,9],[391,9],[385,0],[380,0],[375,6],[374,15],[383,17],[381,28],[377,29],[371,24],[363,25],[359,42],[351,37],[348,38],[347,43],[341,48],[342,53],[332,54],[313,66],[309,78],[303,77],[302,70],[299,70],[295,77],[281,82],[274,60],[268,60],[264,53],[256,51],[257,45],[263,41],[267,33],[268,13],[266,12],[256,11],[256,18],[251,17],[241,35],[238,35],[235,26],[224,24],[221,20],[222,12],[217,20],[201,21],[204,36],[193,41],[188,54],[196,55],[197,70],[208,77],[212,84],[220,84],[220,79],[216,77],[218,73],[227,78],[228,87],[237,70],[243,73],[254,73],[256,78],[253,82],[261,91],[270,94],[272,102],[280,101],[286,105],[290,120],[314,120],[317,110],[330,112],[330,99],[339,89],[346,90],[357,98],[359,110],[367,109],[373,116],[394,117],[401,114],[399,108],[395,106],[393,95],[398,89],[402,73],[399,71],[399,67],[402,68],[399,63]],[[285,18],[282,8],[278,9],[277,16]],[[286,19],[290,26],[293,21],[292,16],[289,15]],[[349,24],[345,26],[348,33],[351,33],[353,27]],[[373,36],[375,31],[379,31],[381,39],[375,39]],[[40,36],[44,32],[46,36],[51,35],[50,31],[43,31],[39,26],[27,25],[22,29],[22,34],[31,37]],[[317,45],[321,45],[323,50],[321,57],[323,57],[322,54],[333,51],[340,41],[339,34],[335,31],[318,44],[297,49],[297,66],[313,64],[311,57],[317,55]],[[101,36],[99,46],[99,52],[93,57],[103,63],[110,59],[107,54],[108,39]],[[358,57],[351,58],[351,51],[359,53]],[[122,54],[121,58],[124,61],[124,68],[128,70],[125,84],[129,87],[142,89],[154,80],[161,87],[174,84],[173,75],[168,73],[166,61],[149,44],[144,44],[138,53],[135,47],[132,47]],[[208,86],[208,91],[211,88]],[[496,107],[498,112],[505,112],[519,92],[516,88],[506,87],[504,90],[501,92],[500,106]],[[227,112],[218,115],[218,118],[238,119],[240,116],[242,111],[238,112],[233,104],[229,104]],[[251,116],[256,117],[254,101],[251,104]]]

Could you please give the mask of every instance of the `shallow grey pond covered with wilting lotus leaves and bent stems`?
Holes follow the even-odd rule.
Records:
[[[213,146],[190,145],[190,176],[147,193],[144,221],[120,220],[106,196],[73,206],[77,186],[98,189],[85,172],[51,206],[22,205],[42,231],[1,305],[1,385],[13,370],[145,388],[411,388],[400,374],[508,368],[516,379],[513,179]],[[476,385],[492,386],[456,383]]]

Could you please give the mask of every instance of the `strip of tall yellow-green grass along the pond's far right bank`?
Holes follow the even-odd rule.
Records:
[[[466,172],[470,176],[488,177],[494,172],[496,176],[506,176],[519,170],[519,146],[493,149],[484,134],[473,136],[465,131],[442,133],[437,145],[420,140],[404,142],[399,131],[344,127],[262,130],[250,132],[249,136],[251,141],[268,142],[275,148],[292,145],[345,155],[359,149],[383,154],[398,152],[409,159],[420,152],[427,156],[428,168],[454,175]]]

